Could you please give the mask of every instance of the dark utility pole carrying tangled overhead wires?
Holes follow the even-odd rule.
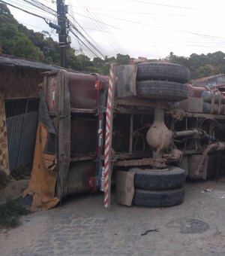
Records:
[[[67,23],[68,18],[66,14],[68,13],[67,7],[64,5],[64,0],[56,0],[57,5],[57,17],[58,26],[60,26],[60,31],[58,32],[58,42],[60,47],[60,62],[61,66],[68,68],[68,29]]]

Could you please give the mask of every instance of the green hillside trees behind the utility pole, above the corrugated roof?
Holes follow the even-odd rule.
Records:
[[[89,59],[84,54],[75,54],[76,50],[68,47],[70,69],[97,72],[108,75],[110,63],[127,64],[130,56],[118,54],[117,58]],[[34,32],[17,22],[6,5],[0,4],[0,53],[43,61],[60,66],[60,47],[49,32]]]

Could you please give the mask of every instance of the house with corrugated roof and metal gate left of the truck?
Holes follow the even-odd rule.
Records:
[[[0,55],[0,170],[31,166],[42,73],[60,67]]]

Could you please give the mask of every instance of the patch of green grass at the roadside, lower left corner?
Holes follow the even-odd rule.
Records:
[[[17,203],[17,200],[9,200],[0,206],[0,228],[17,227],[20,224],[20,216],[27,215],[28,210]]]

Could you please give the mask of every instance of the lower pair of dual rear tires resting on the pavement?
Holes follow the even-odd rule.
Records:
[[[130,169],[134,175],[133,205],[145,207],[176,206],[184,201],[184,169]]]

